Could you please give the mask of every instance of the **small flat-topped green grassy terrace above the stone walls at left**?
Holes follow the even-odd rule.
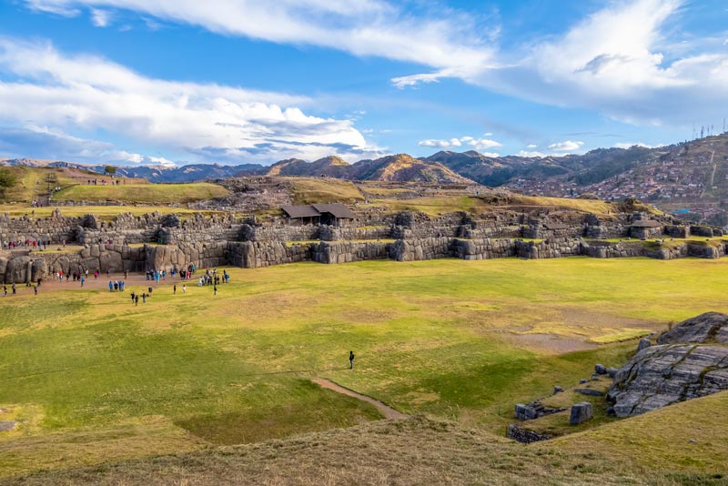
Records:
[[[120,201],[134,204],[184,204],[225,197],[225,187],[205,182],[191,184],[126,184],[122,186],[67,187],[54,195],[56,201]]]

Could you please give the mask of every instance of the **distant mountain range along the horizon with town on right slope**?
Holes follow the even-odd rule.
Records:
[[[103,173],[106,166],[27,158],[5,159],[1,165],[77,167]],[[670,177],[663,177],[659,167]],[[337,177],[351,180],[432,182],[506,186],[547,196],[593,192],[599,197],[684,197],[679,186],[692,187],[692,197],[728,197],[728,134],[703,137],[665,147],[599,148],[563,157],[487,157],[476,151],[441,151],[430,157],[399,154],[353,164],[339,157],[313,162],[297,158],[272,166],[192,164],[181,167],[117,167],[125,177],[151,182],[191,182],[235,176]],[[628,177],[629,176],[629,177]],[[625,177],[629,180],[625,180]],[[652,186],[651,186],[652,185]],[[642,191],[651,186],[649,191]],[[624,190],[623,190],[624,189]],[[628,189],[628,190],[627,190]]]

